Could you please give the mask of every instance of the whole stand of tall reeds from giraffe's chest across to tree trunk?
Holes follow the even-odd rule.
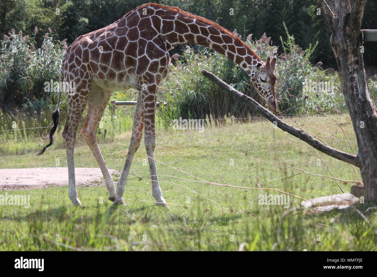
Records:
[[[316,114],[317,110],[325,113],[346,112],[337,73],[323,70],[321,63],[313,66],[310,57],[316,45],[310,45],[303,51],[296,45],[294,37],[288,33],[286,27],[285,29],[287,40],[281,38],[284,54],[278,57],[275,68],[279,111],[297,115],[312,115]],[[246,42],[263,61],[267,56],[275,55],[278,50],[271,45],[271,38],[266,34],[256,41],[252,41],[252,35],[249,35]],[[185,63],[172,67],[160,87],[159,98],[169,102],[171,115],[175,118],[181,116],[203,119],[206,115],[214,118],[245,118],[254,115],[250,107],[204,78],[200,73],[202,69],[215,73],[259,103],[264,102],[251,86],[244,70],[221,54],[195,47],[194,50],[185,52],[183,58]],[[305,92],[303,84],[309,81],[334,84],[334,89],[327,92]]]

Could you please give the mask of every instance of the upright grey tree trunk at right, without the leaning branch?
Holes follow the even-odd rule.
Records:
[[[329,8],[324,14],[333,31],[330,43],[356,134],[365,200],[377,202],[377,110],[364,70],[360,31],[366,1],[329,0],[328,6],[323,0],[316,2],[322,9]]]

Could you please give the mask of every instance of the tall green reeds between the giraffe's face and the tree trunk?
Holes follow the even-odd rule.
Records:
[[[317,44],[309,46],[303,51],[296,45],[294,37],[287,33],[287,40],[281,37],[283,54],[279,56],[279,62],[276,65],[275,74],[278,78],[276,83],[277,98],[280,111],[283,113],[298,115],[313,115],[319,112],[325,113],[342,113],[346,112],[346,105],[343,94],[340,90],[340,80],[337,72],[334,70],[322,69],[322,63],[319,62],[313,66],[310,57]],[[331,90],[305,91],[305,83],[333,84]]]

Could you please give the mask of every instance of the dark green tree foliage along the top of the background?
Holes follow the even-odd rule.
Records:
[[[118,20],[145,0],[2,0],[0,3],[0,32],[8,34],[10,29],[24,34],[33,34],[35,26],[40,34],[35,40],[40,45],[43,36],[51,28],[57,39],[67,38],[68,43],[87,32],[97,30]],[[313,0],[156,0],[155,2],[178,6],[214,20],[242,37],[264,33],[274,44],[281,46],[279,37],[285,35],[283,22],[287,24],[296,43],[304,49],[318,41],[311,61],[322,61],[324,67],[335,66],[333,52],[329,46],[330,30],[323,14],[318,14]],[[377,28],[377,3],[368,1],[362,28]],[[57,9],[59,12],[57,14]],[[233,10],[231,10],[233,9]],[[231,14],[232,13],[232,14]],[[377,45],[365,44],[365,64],[377,63]]]

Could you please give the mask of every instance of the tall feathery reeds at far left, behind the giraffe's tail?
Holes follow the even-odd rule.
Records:
[[[40,48],[22,32],[4,35],[0,52],[0,103],[2,109],[40,113],[56,104],[57,93],[45,92],[45,82],[60,80],[65,42],[45,34]]]

